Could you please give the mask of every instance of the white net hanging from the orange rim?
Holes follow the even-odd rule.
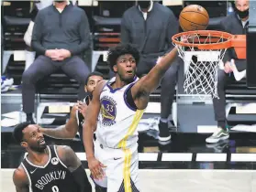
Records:
[[[226,41],[223,37],[215,43]],[[196,42],[196,44],[208,44],[211,43],[211,37],[208,35],[202,37],[198,34],[193,34],[193,37],[189,37],[190,43]],[[199,41],[199,42],[198,42]],[[183,47],[175,45],[178,49],[179,57],[184,60],[184,91],[187,94],[198,96],[201,100],[205,100],[207,96],[212,98],[218,98],[217,96],[217,71],[219,69],[219,63],[222,61],[226,49],[196,49],[196,47]]]

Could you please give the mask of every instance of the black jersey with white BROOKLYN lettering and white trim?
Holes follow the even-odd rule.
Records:
[[[21,163],[28,176],[29,192],[78,192],[71,172],[57,154],[56,145],[47,148],[50,158],[46,165],[33,165],[27,155]]]

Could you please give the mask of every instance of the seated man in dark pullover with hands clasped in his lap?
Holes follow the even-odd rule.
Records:
[[[36,83],[57,69],[80,83],[79,98],[83,98],[89,69],[82,57],[90,43],[89,23],[83,9],[69,1],[54,1],[39,11],[31,41],[39,57],[22,76],[23,111],[28,122],[33,123]]]

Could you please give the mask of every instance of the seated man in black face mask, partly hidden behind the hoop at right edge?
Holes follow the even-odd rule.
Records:
[[[245,35],[246,27],[249,22],[249,0],[236,0],[235,11],[225,17],[221,22],[223,30],[233,35]],[[234,59],[238,70],[246,69],[246,59],[238,59],[234,48],[229,48],[223,59],[225,69],[218,71],[217,77],[217,94],[219,99],[213,99],[215,119],[217,121],[217,131],[210,137],[206,138],[206,143],[217,143],[220,140],[226,140],[229,137],[228,128],[226,124],[226,100],[225,100],[225,86],[228,80],[234,80],[232,66],[230,60]]]

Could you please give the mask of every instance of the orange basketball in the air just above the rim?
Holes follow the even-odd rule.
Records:
[[[205,30],[209,15],[203,6],[188,5],[181,12],[179,22],[184,31]]]

